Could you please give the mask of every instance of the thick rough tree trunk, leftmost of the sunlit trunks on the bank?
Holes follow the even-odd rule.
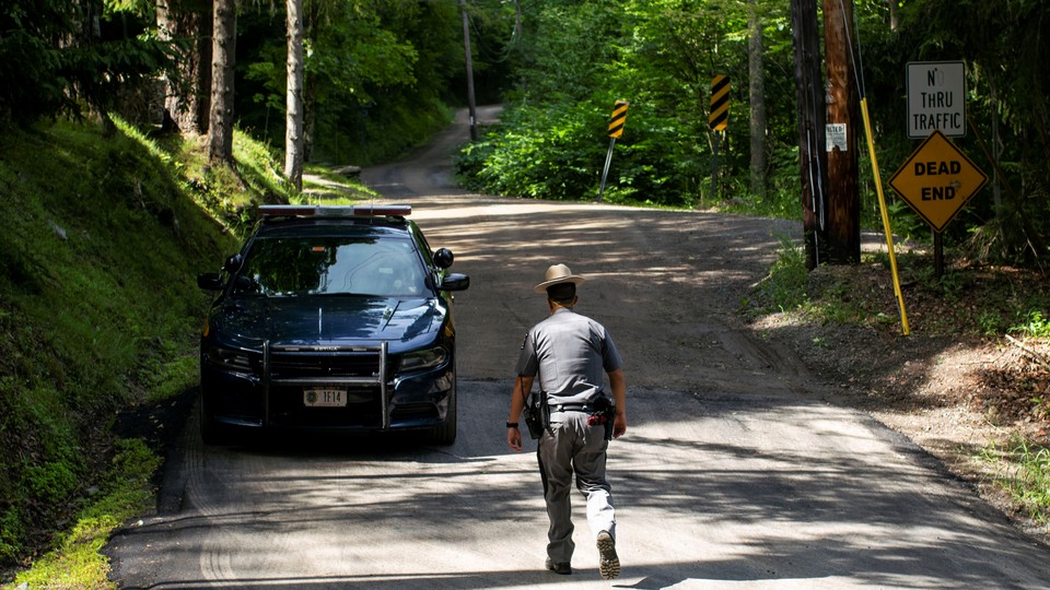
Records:
[[[207,9],[207,12],[205,11]],[[165,119],[179,131],[208,132],[211,108],[211,4],[187,0],[158,0],[156,24],[161,38],[189,39],[182,50],[177,79],[165,80]]]

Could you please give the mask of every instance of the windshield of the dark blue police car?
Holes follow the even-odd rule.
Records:
[[[425,290],[410,239],[282,237],[256,239],[234,293],[267,296],[419,296]]]

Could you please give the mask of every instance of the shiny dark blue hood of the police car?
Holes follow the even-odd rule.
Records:
[[[444,317],[435,298],[237,297],[215,309],[212,328],[231,340],[282,344],[411,341],[440,329]]]

